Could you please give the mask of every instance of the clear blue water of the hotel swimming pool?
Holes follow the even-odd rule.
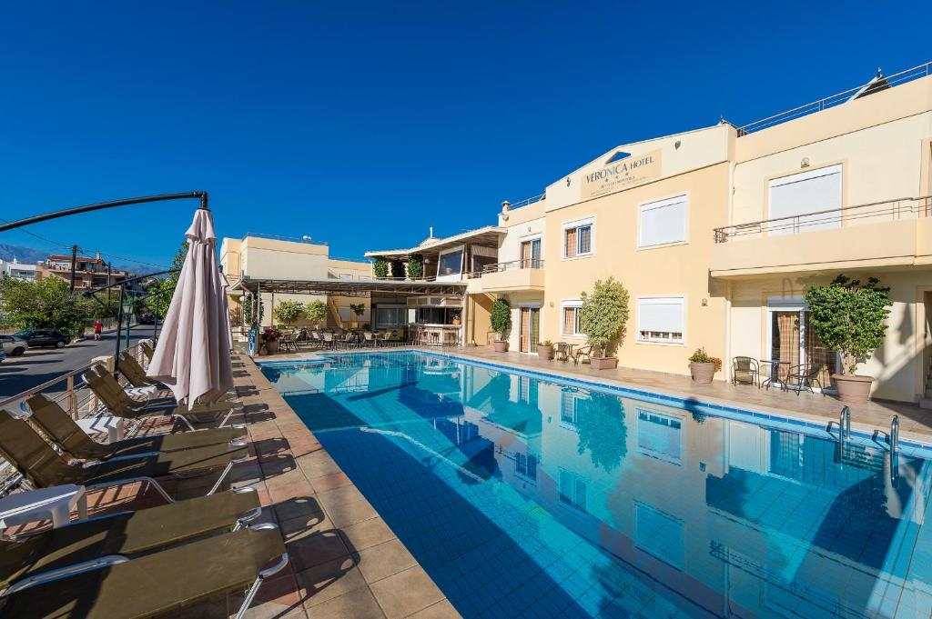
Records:
[[[420,353],[263,371],[465,617],[932,612],[922,451]]]

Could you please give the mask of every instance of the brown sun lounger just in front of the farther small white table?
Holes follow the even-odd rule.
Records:
[[[30,420],[38,425],[48,438],[55,441],[62,451],[67,451],[79,460],[106,460],[157,451],[185,451],[231,444],[247,434],[245,426],[233,426],[154,437],[124,438],[103,444],[89,437],[62,407],[46,396],[31,396],[26,400],[26,406],[32,412]]]

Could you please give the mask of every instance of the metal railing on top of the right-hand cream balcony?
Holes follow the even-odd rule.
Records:
[[[932,195],[899,197],[883,202],[870,202],[842,209],[816,210],[801,215],[777,217],[761,222],[738,223],[716,228],[716,243],[727,243],[740,236],[795,235],[813,230],[842,227],[843,222],[893,222],[932,216]]]

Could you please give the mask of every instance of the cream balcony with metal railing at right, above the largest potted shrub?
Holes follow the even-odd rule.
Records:
[[[713,277],[932,264],[932,196],[716,228]]]

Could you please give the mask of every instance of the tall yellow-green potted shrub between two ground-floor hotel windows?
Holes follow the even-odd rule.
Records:
[[[609,277],[599,279],[592,294],[582,292],[580,299],[580,328],[586,343],[592,348],[589,363],[594,370],[611,370],[618,367],[614,351],[624,341],[624,328],[628,321],[628,291],[620,281]]]

